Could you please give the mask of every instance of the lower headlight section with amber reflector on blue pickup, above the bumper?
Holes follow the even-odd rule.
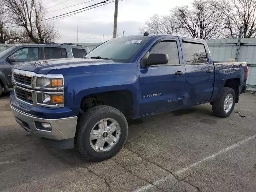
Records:
[[[64,104],[64,96],[50,93],[37,93],[37,103],[43,105]]]

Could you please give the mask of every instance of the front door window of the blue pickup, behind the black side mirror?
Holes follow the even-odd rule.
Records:
[[[167,54],[169,56],[168,64],[164,65],[178,65],[180,64],[178,46],[176,41],[162,41],[155,44],[144,58],[148,57],[152,53]]]

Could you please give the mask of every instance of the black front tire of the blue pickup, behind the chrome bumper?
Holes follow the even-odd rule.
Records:
[[[116,120],[119,125],[120,131],[115,134],[119,134],[119,138],[117,142],[113,142],[113,146],[110,146],[109,150],[102,151],[100,148],[95,149],[96,143],[98,139],[104,140],[104,134],[99,134],[100,138],[98,138],[95,142],[95,146],[93,142],[95,140],[90,140],[92,131],[95,127],[98,127],[100,130],[100,126],[98,123],[103,120],[106,122],[106,119]],[[109,123],[109,121],[107,121]],[[116,127],[116,126],[107,126],[108,128]],[[96,131],[98,131],[96,130]],[[101,130],[100,130],[101,131]],[[106,136],[106,135],[105,135]],[[103,161],[109,159],[117,154],[117,152],[124,146],[126,139],[128,136],[128,123],[124,114],[113,108],[111,106],[101,105],[95,106],[87,110],[84,114],[79,117],[78,124],[76,127],[76,137],[75,137],[75,148],[84,156],[86,159],[90,161]],[[111,133],[107,134],[107,137],[111,137]],[[117,138],[117,135],[116,135]],[[106,143],[108,145],[108,143]],[[99,147],[100,145],[98,145]],[[104,144],[105,146],[105,144]],[[106,147],[104,147],[106,148]],[[98,150],[98,151],[96,151]]]

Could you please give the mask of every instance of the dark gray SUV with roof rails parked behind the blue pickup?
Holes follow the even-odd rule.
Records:
[[[0,95],[12,88],[12,67],[28,61],[82,58],[90,52],[88,47],[74,44],[24,44],[16,45],[0,52]]]

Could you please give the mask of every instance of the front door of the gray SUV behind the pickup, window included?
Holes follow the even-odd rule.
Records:
[[[8,57],[4,61],[4,71],[8,76],[12,76],[12,67],[16,64],[26,61],[40,60],[40,48],[38,47],[24,47],[14,51],[8,57],[13,56],[15,61],[8,61]]]

